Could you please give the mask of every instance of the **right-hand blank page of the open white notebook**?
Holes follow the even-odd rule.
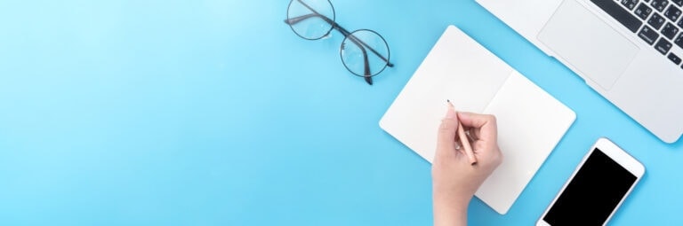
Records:
[[[503,161],[476,195],[505,214],[576,116],[517,71],[510,74],[484,113],[496,116]]]

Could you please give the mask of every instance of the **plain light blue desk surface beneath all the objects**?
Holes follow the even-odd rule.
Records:
[[[0,2],[0,224],[430,225],[430,165],[378,127],[447,25],[578,118],[505,215],[530,225],[607,136],[647,173],[614,225],[681,223],[683,142],[664,144],[472,0],[333,1],[382,34],[374,86],[311,42],[288,1]]]

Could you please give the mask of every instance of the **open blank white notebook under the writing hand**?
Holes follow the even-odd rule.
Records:
[[[446,99],[459,111],[498,120],[503,161],[476,196],[500,214],[508,212],[576,117],[454,26],[446,28],[380,127],[431,162]]]

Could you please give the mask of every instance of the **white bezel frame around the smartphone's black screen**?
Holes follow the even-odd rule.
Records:
[[[615,160],[615,162],[621,165],[623,168],[626,168],[626,170],[631,172],[631,174],[636,175],[636,181],[633,183],[633,185],[631,185],[629,191],[627,191],[626,194],[623,195],[623,198],[619,200],[619,204],[616,205],[615,209],[612,210],[612,213],[609,214],[607,220],[603,222],[602,225],[605,225],[607,222],[609,222],[609,219],[612,218],[616,210],[622,206],[623,200],[626,197],[628,197],[629,194],[631,194],[633,188],[636,187],[636,184],[639,183],[640,178],[642,178],[645,174],[645,167],[642,163],[633,158],[629,153],[623,151],[623,149],[617,146],[615,143],[613,143],[605,137],[600,137],[598,141],[591,146],[589,152],[586,153],[585,156],[583,156],[583,160],[581,160],[581,163],[579,163],[579,165],[575,168],[574,173],[572,173],[569,179],[566,180],[565,185],[562,186],[562,189],[555,196],[555,199],[552,199],[550,205],[548,205],[548,207],[545,208],[545,211],[543,211],[543,214],[541,214],[541,218],[539,218],[538,222],[536,222],[536,226],[552,226],[548,222],[543,221],[543,217],[545,217],[545,214],[548,214],[548,211],[550,211],[550,207],[555,205],[555,202],[558,200],[559,195],[561,195],[562,192],[565,191],[566,185],[568,185],[572,180],[574,180],[574,176],[576,175],[576,173],[579,171],[579,169],[583,167],[583,164],[586,162],[588,157],[591,156],[591,153],[595,152],[596,148],[599,149],[601,152],[607,154],[607,156],[610,159]]]

